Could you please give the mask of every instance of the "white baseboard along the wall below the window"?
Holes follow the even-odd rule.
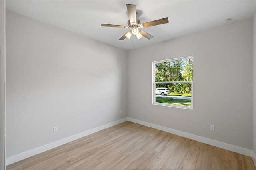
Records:
[[[167,127],[163,127],[163,126],[160,126],[160,125],[155,125],[153,123],[148,123],[148,122],[144,122],[144,121],[140,121],[138,119],[133,119],[133,118],[130,118],[130,117],[127,117],[127,120],[128,121],[131,121],[131,122],[134,122],[134,123],[138,123],[140,125],[144,125],[144,126],[147,126],[147,127],[152,127],[152,128],[156,128],[158,130],[162,130],[162,131],[165,131],[165,132],[169,132],[169,133],[172,133],[172,134],[176,134],[178,136],[183,136],[185,138],[189,138],[189,139],[192,139],[192,140],[196,140],[198,142],[202,142],[202,143],[206,143],[206,144],[210,144],[212,146],[216,146],[216,147],[219,147],[219,148],[223,148],[223,149],[226,149],[226,150],[230,150],[232,152],[236,152],[236,153],[240,153],[240,154],[244,154],[246,156],[252,156],[252,153],[253,151],[252,150],[249,150],[249,149],[246,149],[246,148],[241,148],[239,146],[234,146],[234,145],[231,145],[231,144],[227,144],[227,143],[224,143],[224,142],[219,142],[217,140],[212,140],[212,139],[209,139],[209,138],[204,138],[202,136],[197,136],[197,135],[194,135],[194,134],[190,134],[190,133],[186,133],[186,132],[182,132],[182,131],[179,131],[179,130],[175,130],[175,129],[172,129],[172,128],[167,128]],[[254,155],[254,163],[255,163],[255,155]]]

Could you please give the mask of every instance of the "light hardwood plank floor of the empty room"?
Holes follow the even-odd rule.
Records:
[[[126,121],[7,170],[256,170],[249,156]]]

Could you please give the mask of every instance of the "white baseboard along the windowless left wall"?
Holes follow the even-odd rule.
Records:
[[[100,127],[96,127],[96,128],[90,129],[90,130],[86,130],[86,131],[84,131],[84,132],[75,134],[75,135],[73,135],[73,136],[69,136],[69,137],[67,137],[67,138],[64,138],[64,139],[61,139],[61,140],[57,140],[57,141],[55,141],[55,142],[46,144],[46,145],[44,145],[44,146],[40,146],[40,147],[38,147],[38,148],[34,148],[34,149],[32,149],[32,150],[28,150],[28,151],[26,151],[26,152],[23,152],[23,153],[20,153],[20,154],[17,154],[17,155],[8,157],[8,158],[6,158],[6,165],[13,164],[13,163],[18,162],[18,161],[20,161],[20,160],[29,158],[30,156],[34,156],[34,155],[36,155],[36,154],[45,152],[45,151],[50,150],[50,149],[52,149],[52,148],[56,148],[57,146],[61,146],[61,145],[66,144],[66,143],[68,143],[68,142],[72,142],[72,141],[74,141],[74,140],[77,140],[77,139],[82,138],[82,137],[84,137],[84,136],[87,136],[87,135],[89,135],[89,134],[98,132],[98,131],[103,130],[103,129],[105,129],[105,128],[112,127],[112,126],[117,125],[117,124],[119,124],[119,123],[122,123],[122,122],[124,122],[124,121],[127,121],[127,118],[123,118],[123,119],[120,119],[120,120],[118,120],[118,121],[114,121],[114,122],[108,123],[108,124],[106,124],[106,125],[102,125],[102,126],[100,126]]]

